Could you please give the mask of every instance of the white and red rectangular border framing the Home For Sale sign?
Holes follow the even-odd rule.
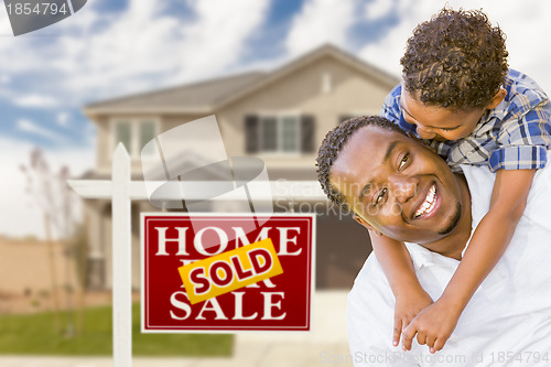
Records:
[[[182,327],[182,326],[153,326],[155,328],[147,328],[151,326],[145,326],[147,321],[147,289],[145,279],[148,274],[147,269],[147,251],[145,251],[145,217],[251,217],[250,213],[165,213],[165,212],[142,212],[140,213],[140,331],[142,334],[239,334],[239,333],[253,333],[253,332],[301,332],[310,333],[312,331],[312,313],[314,307],[314,296],[315,296],[315,248],[316,248],[316,215],[315,213],[269,213],[261,214],[256,213],[255,216],[258,217],[309,217],[312,218],[312,247],[310,253],[310,278],[306,282],[310,282],[309,294],[306,294],[307,307],[306,307],[306,324],[302,326],[258,326],[253,327],[220,327],[220,326],[204,326],[198,328],[197,326]]]

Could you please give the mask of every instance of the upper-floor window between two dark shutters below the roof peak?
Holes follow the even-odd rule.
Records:
[[[260,117],[259,150],[272,153],[300,152],[300,125],[298,116]]]

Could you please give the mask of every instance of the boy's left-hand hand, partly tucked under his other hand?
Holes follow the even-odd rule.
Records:
[[[397,296],[395,306],[395,330],[392,345],[398,346],[402,330],[426,306],[432,304],[432,299],[422,288]]]

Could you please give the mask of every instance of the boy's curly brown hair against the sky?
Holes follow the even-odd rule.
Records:
[[[507,75],[505,39],[480,10],[443,8],[408,40],[400,60],[406,90],[452,110],[487,106]]]

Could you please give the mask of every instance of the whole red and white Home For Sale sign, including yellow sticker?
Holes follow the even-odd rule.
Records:
[[[310,331],[315,215],[260,218],[143,213],[142,332]]]

